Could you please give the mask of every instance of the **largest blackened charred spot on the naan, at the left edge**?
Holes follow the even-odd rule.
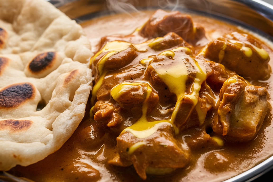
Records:
[[[35,96],[31,83],[9,85],[0,90],[0,108],[16,108]]]

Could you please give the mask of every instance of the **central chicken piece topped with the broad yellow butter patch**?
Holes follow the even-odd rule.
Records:
[[[166,84],[177,96],[190,93],[196,76],[195,61],[191,54],[186,47],[160,53],[147,67],[146,79],[153,85]]]

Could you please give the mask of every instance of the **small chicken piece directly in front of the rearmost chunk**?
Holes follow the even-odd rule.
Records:
[[[164,37],[158,37],[149,43],[149,47],[154,50],[169,49],[174,46],[188,47],[191,51],[194,50],[190,44],[174,32],[170,32],[164,35]]]

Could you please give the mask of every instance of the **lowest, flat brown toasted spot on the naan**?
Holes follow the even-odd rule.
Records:
[[[30,120],[0,120],[0,130],[10,130],[10,132],[19,132],[31,127],[33,121]]]

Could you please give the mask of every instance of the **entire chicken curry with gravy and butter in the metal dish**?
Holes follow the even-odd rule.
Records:
[[[107,35],[114,19],[117,29],[137,28]],[[90,59],[86,117],[56,153],[11,173],[34,181],[223,181],[272,156],[269,42],[178,11],[82,26],[93,42],[102,37]]]

